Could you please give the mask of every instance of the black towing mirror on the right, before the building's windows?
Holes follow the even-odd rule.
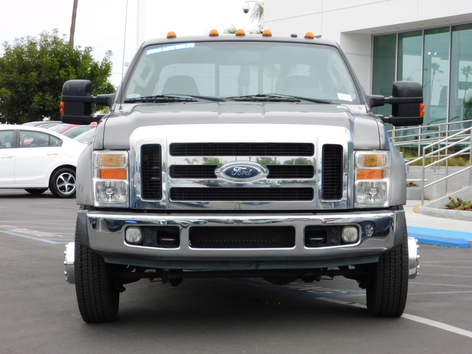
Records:
[[[392,115],[380,118],[384,123],[391,123],[394,126],[423,124],[423,87],[420,83],[395,81],[390,97],[370,95],[367,96],[367,100],[371,108],[383,106],[386,103],[392,105]]]

